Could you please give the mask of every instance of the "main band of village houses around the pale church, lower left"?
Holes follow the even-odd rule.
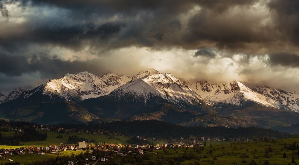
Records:
[[[136,136],[141,140],[155,140],[155,138],[142,138]],[[167,139],[159,139],[159,140],[167,140]],[[84,151],[89,152],[90,154],[94,152],[94,150],[101,151],[105,153],[102,157],[96,157],[95,155],[90,156],[90,158],[86,158],[84,161],[84,165],[89,165],[90,161],[100,161],[100,162],[107,162],[113,158],[117,157],[127,157],[128,154],[139,154],[143,155],[144,151],[151,151],[154,154],[158,152],[154,152],[154,150],[164,150],[164,149],[171,149],[171,148],[183,148],[183,147],[194,147],[194,146],[205,146],[206,142],[208,141],[221,141],[219,138],[205,138],[201,137],[200,141],[192,140],[190,144],[188,141],[184,140],[184,138],[175,139],[174,142],[165,143],[163,145],[157,144],[155,146],[150,144],[138,145],[138,144],[129,144],[129,145],[121,145],[121,144],[101,144],[101,145],[94,145],[88,144],[85,141],[78,141],[77,145],[66,145],[61,144],[60,146],[57,145],[49,145],[45,146],[31,146],[31,147],[21,147],[15,149],[0,149],[0,159],[5,160],[5,155],[23,155],[23,154],[37,154],[37,155],[44,155],[44,154],[56,154],[60,155],[63,151],[71,150],[71,151]],[[12,159],[6,159],[8,161],[13,161]],[[78,160],[69,161],[68,165],[73,165],[74,163],[78,163]]]

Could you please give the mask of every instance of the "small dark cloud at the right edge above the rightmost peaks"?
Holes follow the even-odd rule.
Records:
[[[296,54],[278,53],[269,56],[272,65],[299,67],[299,56]]]

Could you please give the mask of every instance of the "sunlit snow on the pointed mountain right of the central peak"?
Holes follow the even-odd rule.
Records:
[[[278,100],[253,91],[239,81],[222,84],[198,81],[196,83],[190,83],[189,86],[197,94],[203,96],[205,101],[211,103],[224,102],[240,105],[247,100],[251,100],[271,108],[280,108],[282,106]]]

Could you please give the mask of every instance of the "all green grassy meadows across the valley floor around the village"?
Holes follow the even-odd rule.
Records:
[[[4,134],[10,135],[11,132],[4,132]],[[128,144],[127,140],[129,137],[118,137],[109,138],[106,135],[90,135],[86,133],[62,133],[62,138],[57,138],[59,133],[56,131],[48,132],[48,138],[46,141],[31,141],[24,142],[24,147],[29,146],[48,146],[50,144],[65,144],[68,140],[69,135],[77,135],[79,137],[85,137],[89,142],[93,141],[94,144],[103,143],[112,143],[112,144]],[[120,140],[119,140],[120,139]],[[171,148],[164,150],[153,150],[153,152],[144,151],[144,155],[148,155],[149,157],[145,158],[144,155],[141,155],[142,160],[130,159],[118,157],[113,160],[114,163],[117,164],[139,164],[141,162],[149,163],[153,162],[161,162],[161,161],[170,161],[175,160],[177,157],[182,155],[190,155],[195,154],[197,158],[195,159],[185,159],[181,161],[180,164],[188,164],[188,165],[198,165],[198,164],[220,164],[220,165],[235,165],[237,164],[249,164],[252,160],[255,160],[258,165],[262,165],[264,161],[268,160],[271,164],[283,164],[286,165],[292,162],[292,157],[294,157],[295,162],[299,163],[299,155],[298,148],[295,151],[288,150],[284,148],[284,144],[292,145],[296,141],[296,144],[299,142],[299,138],[289,138],[289,139],[278,139],[275,141],[248,141],[244,142],[234,142],[234,141],[211,141],[207,142],[207,146],[204,146],[204,150],[199,151],[196,148],[188,147],[188,148]],[[167,144],[167,141],[153,141],[154,145],[156,144]],[[211,147],[210,147],[211,144]],[[265,150],[269,149],[269,147],[273,149],[271,152],[271,157],[267,158],[265,156]],[[20,148],[22,146],[0,146],[0,148]],[[211,150],[211,151],[210,151]],[[62,155],[70,155],[71,153],[78,154],[80,152],[85,151],[63,151]],[[286,153],[286,158],[283,158],[283,153]],[[241,155],[245,153],[248,155],[248,158],[243,158]],[[12,159],[13,162],[21,162],[21,164],[28,164],[32,161],[40,161],[45,160],[51,157],[56,157],[55,154],[30,154],[27,153],[25,155],[5,155],[7,159]],[[255,158],[254,158],[255,157]],[[242,163],[242,161],[246,161],[246,163]],[[8,162],[7,160],[0,160],[0,163]],[[94,163],[90,161],[91,164]],[[98,162],[97,164],[110,164],[112,162]],[[175,162],[178,164],[178,162]]]

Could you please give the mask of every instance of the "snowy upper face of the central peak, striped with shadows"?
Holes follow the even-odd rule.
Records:
[[[202,97],[170,73],[159,73],[154,69],[142,71],[133,79],[111,93],[121,101],[140,104],[167,102],[184,107],[201,104]]]

